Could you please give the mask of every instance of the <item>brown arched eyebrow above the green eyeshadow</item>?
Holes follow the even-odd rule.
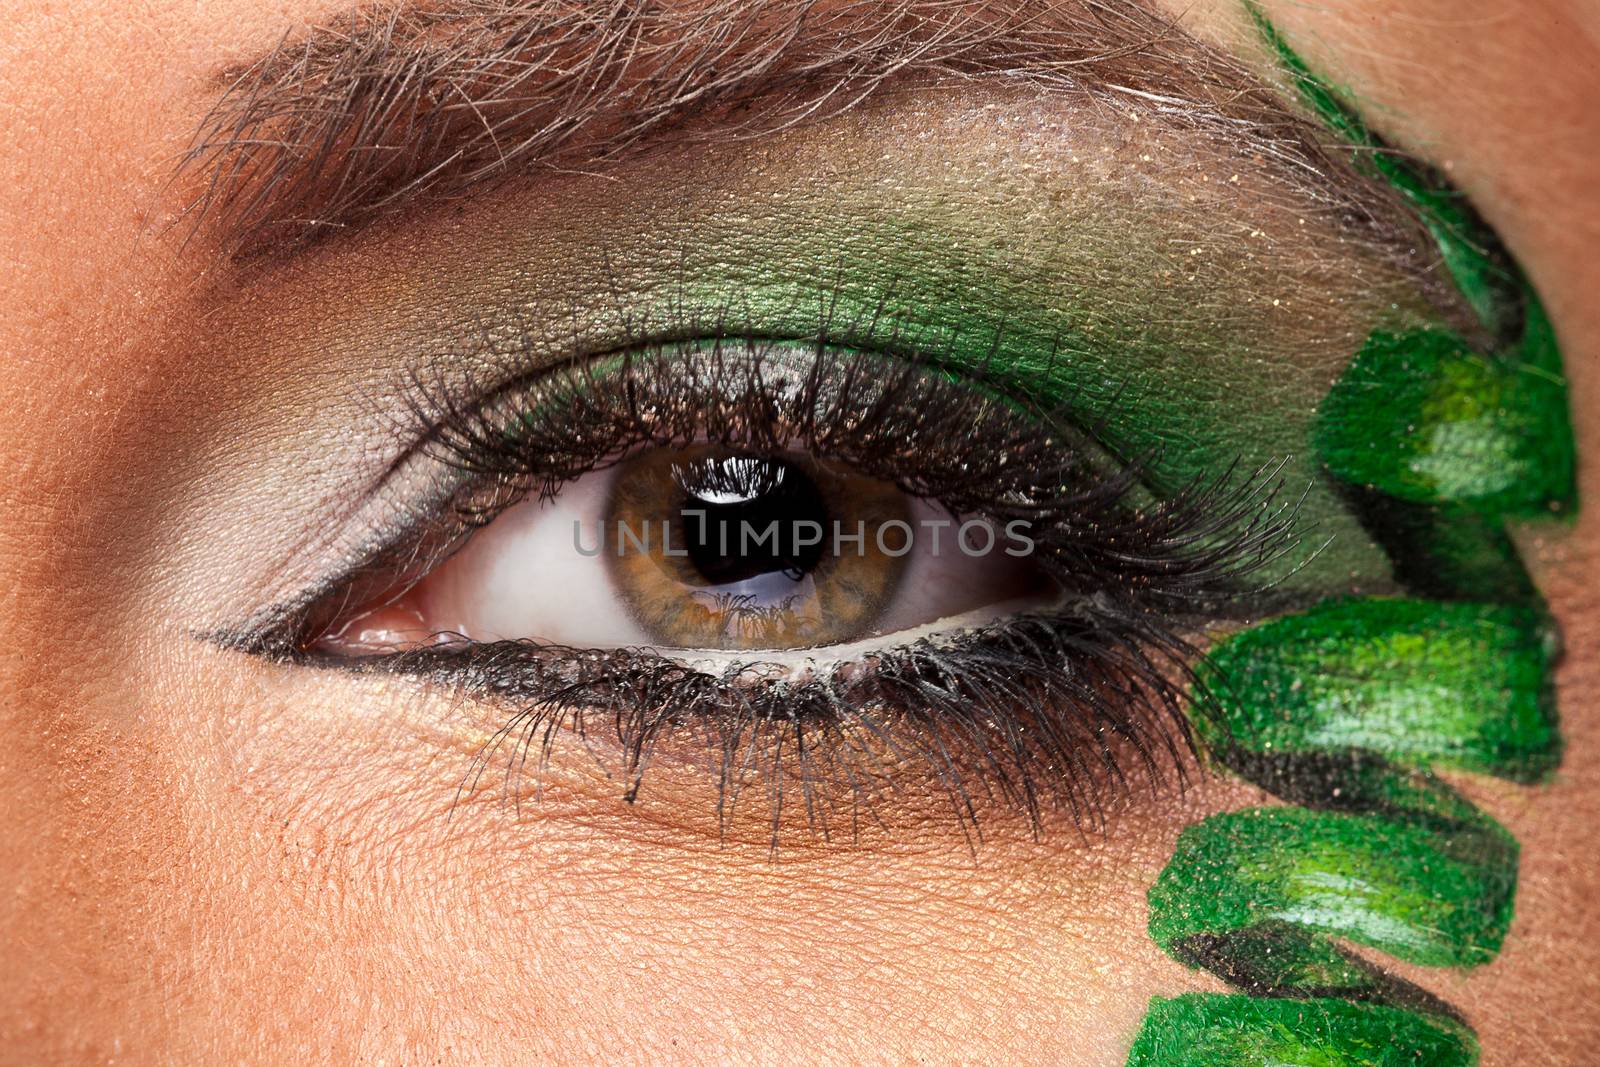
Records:
[[[662,141],[837,115],[893,80],[986,77],[1206,130],[1395,240],[1392,203],[1237,61],[1134,0],[443,0],[352,11],[226,74],[179,174],[248,258],[403,206]],[[1386,203],[1379,203],[1386,202]],[[1387,210],[1384,206],[1387,205]]]

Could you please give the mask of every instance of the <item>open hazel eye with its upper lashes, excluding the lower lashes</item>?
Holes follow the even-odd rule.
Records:
[[[467,475],[456,517],[483,530],[325,646],[371,651],[410,627],[434,643],[816,654],[1027,597],[1048,490],[990,488],[992,506],[1013,501],[1010,530],[962,517],[936,501],[971,507],[982,482],[931,445],[942,429],[1014,451],[1027,418],[893,363],[725,338],[499,390],[422,430]]]

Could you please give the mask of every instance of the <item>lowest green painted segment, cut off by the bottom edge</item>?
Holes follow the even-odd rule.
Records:
[[[1381,1005],[1190,993],[1150,1003],[1128,1067],[1469,1067],[1459,1027]]]

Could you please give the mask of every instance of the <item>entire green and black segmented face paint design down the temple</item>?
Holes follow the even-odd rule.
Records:
[[[1448,1005],[1336,939],[1470,968],[1510,926],[1517,841],[1429,768],[1534,782],[1560,757],[1552,625],[1504,531],[1576,502],[1560,355],[1459,194],[1389,152],[1248,6],[1304,104],[1418,213],[1478,323],[1374,331],[1318,408],[1330,482],[1430,600],[1325,601],[1198,669],[1208,755],[1285,806],[1179,837],[1150,936],[1242,992],[1154,1000],[1128,1062],[1467,1067],[1477,1041]]]

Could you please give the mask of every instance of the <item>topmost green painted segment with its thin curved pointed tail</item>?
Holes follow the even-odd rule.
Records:
[[[1562,357],[1538,294],[1443,174],[1384,144],[1254,0],[1245,6],[1306,106],[1418,213],[1494,346],[1486,352],[1443,328],[1370,336],[1320,411],[1317,446],[1330,472],[1418,504],[1506,515],[1570,509],[1576,450]]]

